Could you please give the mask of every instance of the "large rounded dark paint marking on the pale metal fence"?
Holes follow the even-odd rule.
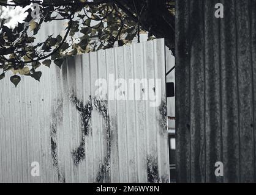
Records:
[[[78,166],[79,163],[85,159],[85,141],[86,137],[92,130],[91,127],[91,116],[92,111],[96,111],[104,119],[104,132],[106,132],[107,141],[107,154],[105,155],[104,162],[100,164],[99,170],[97,171],[96,182],[110,182],[110,152],[111,152],[111,135],[110,135],[110,118],[108,116],[108,101],[91,98],[85,105],[83,101],[79,100],[74,93],[70,95],[70,102],[73,102],[80,113],[81,117],[81,131],[82,137],[80,145],[77,149],[74,149],[71,154],[73,163]],[[65,182],[63,174],[61,174],[58,161],[58,143],[57,143],[57,127],[63,121],[63,103],[62,100],[56,102],[53,112],[53,122],[51,122],[51,157],[53,159],[53,166],[58,172],[59,182]]]

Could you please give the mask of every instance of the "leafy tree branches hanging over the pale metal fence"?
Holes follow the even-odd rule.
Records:
[[[64,57],[122,46],[136,36],[140,41],[140,34],[145,32],[149,38],[166,38],[168,27],[174,29],[173,1],[0,0],[0,5],[22,7],[28,13],[24,22],[13,29],[6,26],[5,20],[0,24],[0,80],[7,71],[12,71],[10,80],[15,86],[21,79],[18,74],[40,80],[40,65],[50,67],[54,63],[61,67]],[[164,7],[170,16],[170,21],[164,21],[164,25],[169,24],[166,28],[156,17],[157,12],[164,15],[159,7]],[[48,35],[39,42],[36,37],[40,27],[51,21],[66,23],[64,35]],[[168,42],[167,38],[167,46],[172,49],[173,35],[170,39]]]

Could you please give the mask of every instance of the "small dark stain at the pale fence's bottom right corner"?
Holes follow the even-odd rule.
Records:
[[[148,155],[147,157],[148,182],[159,183],[159,171],[157,166],[157,158]]]

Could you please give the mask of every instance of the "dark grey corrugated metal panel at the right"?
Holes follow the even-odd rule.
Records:
[[[178,182],[256,182],[255,18],[255,0],[176,1]]]

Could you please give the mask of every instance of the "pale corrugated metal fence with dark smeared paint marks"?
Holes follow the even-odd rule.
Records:
[[[17,88],[8,76],[0,82],[0,182],[169,181],[164,40],[78,55],[61,69],[41,69],[40,82],[22,77]],[[110,83],[110,74],[153,79],[152,88],[144,85],[134,97],[160,90],[160,106],[95,96],[96,80]],[[40,177],[31,176],[33,161]]]

